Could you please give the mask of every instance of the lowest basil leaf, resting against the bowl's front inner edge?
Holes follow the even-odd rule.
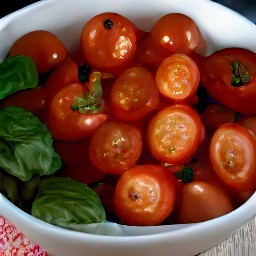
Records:
[[[86,184],[65,177],[49,177],[39,186],[31,214],[56,226],[102,223],[106,213],[97,193]]]

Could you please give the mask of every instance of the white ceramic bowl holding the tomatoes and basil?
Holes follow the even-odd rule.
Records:
[[[256,51],[256,26],[209,0],[45,0],[0,20],[0,61],[14,40],[34,29],[50,30],[69,49],[74,49],[85,22],[105,11],[121,13],[145,30],[165,13],[182,12],[198,24],[207,41],[207,54],[228,46]],[[195,255],[217,245],[255,215],[256,194],[230,214],[204,223],[153,228],[124,226],[121,236],[107,236],[47,224],[24,213],[0,194],[0,216],[49,255],[57,256]]]

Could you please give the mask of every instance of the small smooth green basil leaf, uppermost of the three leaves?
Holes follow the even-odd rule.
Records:
[[[0,64],[0,99],[38,84],[35,62],[27,56],[7,57]]]

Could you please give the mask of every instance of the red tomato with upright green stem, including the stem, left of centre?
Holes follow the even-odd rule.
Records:
[[[95,82],[94,78],[92,80],[92,86],[98,87],[98,82]],[[81,83],[75,83],[55,95],[48,110],[47,120],[54,139],[67,142],[84,140],[108,118],[103,110],[101,93],[99,98],[95,97],[97,89],[90,92]]]

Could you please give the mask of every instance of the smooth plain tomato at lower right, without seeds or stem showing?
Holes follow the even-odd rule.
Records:
[[[192,181],[182,188],[178,206],[178,223],[211,220],[234,210],[229,195],[209,182]]]

